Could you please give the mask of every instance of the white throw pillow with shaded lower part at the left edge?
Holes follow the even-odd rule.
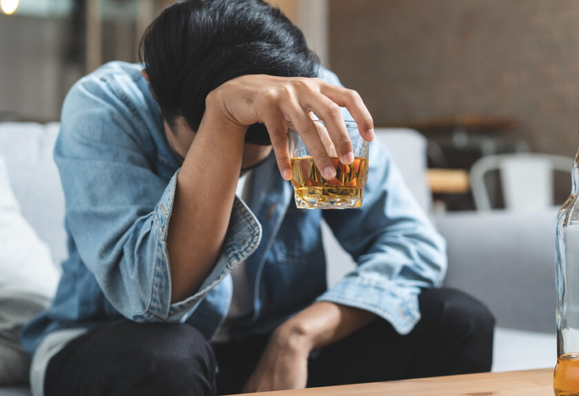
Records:
[[[48,308],[60,278],[48,245],[23,218],[9,181],[0,156],[0,385],[28,382],[30,357],[19,333]]]

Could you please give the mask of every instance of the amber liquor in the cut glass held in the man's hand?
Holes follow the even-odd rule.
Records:
[[[350,165],[344,165],[338,158],[330,159],[336,169],[336,177],[332,180],[322,177],[312,157],[291,159],[297,207],[343,209],[362,205],[363,188],[368,178],[368,158],[356,157]]]

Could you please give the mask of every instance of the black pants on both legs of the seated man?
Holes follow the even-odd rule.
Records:
[[[420,294],[422,319],[408,335],[385,320],[314,353],[307,386],[489,371],[494,318],[452,289]],[[252,374],[267,336],[211,345],[189,324],[119,320],[70,342],[52,357],[45,395],[227,395]],[[219,364],[219,373],[216,373]]]

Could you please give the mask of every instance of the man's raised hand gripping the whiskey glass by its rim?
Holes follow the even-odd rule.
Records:
[[[336,170],[323,142],[334,143],[342,163],[348,165],[354,161],[341,106],[354,117],[360,135],[365,140],[372,140],[374,123],[360,95],[321,79],[261,74],[240,76],[217,87],[206,99],[207,110],[221,114],[233,125],[265,124],[279,170],[286,180],[292,178],[287,149],[288,123],[294,125],[325,178],[334,178]],[[327,129],[316,128],[312,112],[322,118]]]

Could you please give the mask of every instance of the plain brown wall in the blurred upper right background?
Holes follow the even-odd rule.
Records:
[[[573,155],[579,1],[330,0],[330,65],[376,123],[505,116],[540,152]]]

